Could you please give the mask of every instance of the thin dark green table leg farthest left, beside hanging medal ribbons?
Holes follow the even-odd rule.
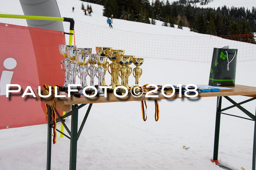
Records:
[[[51,154],[52,154],[52,126],[50,122],[52,121],[52,108],[48,105],[48,138],[47,138],[47,164],[46,169],[51,169]]]

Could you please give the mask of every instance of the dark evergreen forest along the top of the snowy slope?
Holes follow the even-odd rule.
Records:
[[[191,31],[211,35],[241,35],[256,32],[256,8],[226,6],[201,8],[194,6],[208,4],[213,0],[83,0],[104,5],[103,16],[111,15],[117,19],[126,19],[148,24],[155,20],[163,21],[167,27],[189,27]]]

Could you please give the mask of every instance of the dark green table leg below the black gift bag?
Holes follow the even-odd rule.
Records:
[[[222,96],[218,96],[218,99],[217,99],[216,120],[215,120],[215,135],[214,135],[213,160],[218,160],[219,128],[220,128],[220,124],[221,124],[221,101],[222,101]]]

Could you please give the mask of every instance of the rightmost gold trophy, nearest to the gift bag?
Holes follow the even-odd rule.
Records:
[[[144,58],[133,58],[132,62],[136,66],[132,70],[133,76],[135,77],[135,84],[139,84],[139,78],[142,75],[142,68],[140,68],[139,66],[141,66],[143,64]],[[139,87],[139,86],[136,85],[136,86],[134,86],[134,88],[135,87]],[[135,88],[135,93],[141,94],[142,92],[139,90],[139,88]]]

